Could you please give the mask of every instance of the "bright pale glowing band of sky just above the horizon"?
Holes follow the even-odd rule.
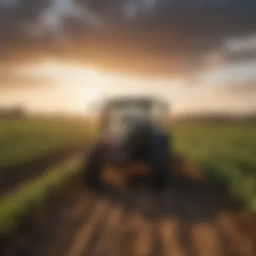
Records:
[[[255,66],[251,64],[249,67],[253,70]],[[104,73],[92,67],[49,60],[16,69],[17,75],[30,75],[39,81],[40,78],[49,79],[49,86],[44,83],[42,86],[39,84],[23,87],[15,84],[11,88],[3,87],[0,89],[0,105],[22,104],[31,112],[88,113],[92,104],[104,96],[153,94],[171,102],[174,113],[207,110],[228,110],[236,113],[255,111],[256,90],[243,90],[242,86],[237,91],[238,87],[229,84],[243,82],[250,72],[250,69],[243,70],[243,67],[237,65],[232,69],[219,67],[197,77],[194,84],[187,84],[171,78],[137,78]]]

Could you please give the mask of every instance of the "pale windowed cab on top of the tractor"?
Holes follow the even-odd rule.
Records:
[[[106,137],[119,137],[133,127],[165,127],[169,113],[166,102],[151,97],[110,98],[103,109],[100,131]]]

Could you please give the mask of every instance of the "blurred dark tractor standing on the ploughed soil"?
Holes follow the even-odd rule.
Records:
[[[102,104],[99,136],[86,155],[84,182],[93,189],[143,179],[156,189],[170,177],[169,105],[152,96],[119,96]]]

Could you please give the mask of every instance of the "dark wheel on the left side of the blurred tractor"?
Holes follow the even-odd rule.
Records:
[[[85,184],[91,189],[100,189],[100,174],[104,166],[104,150],[101,145],[96,145],[90,150],[83,168]]]

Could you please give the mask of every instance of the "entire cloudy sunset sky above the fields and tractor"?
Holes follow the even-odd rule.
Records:
[[[256,111],[256,5],[243,3],[0,0],[0,106],[83,114],[150,94],[178,114]]]

